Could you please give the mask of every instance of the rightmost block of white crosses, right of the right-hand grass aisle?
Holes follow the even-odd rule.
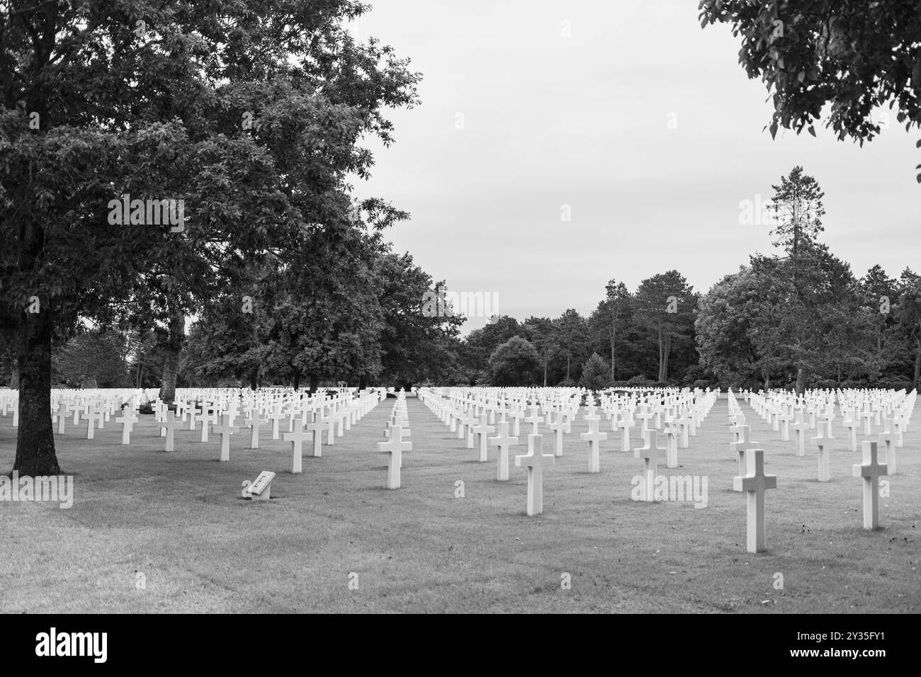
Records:
[[[892,412],[898,414],[898,420],[902,423],[900,430],[907,427],[907,420],[911,417],[914,410],[916,392],[905,395],[904,391],[860,391],[865,403],[860,418],[864,422],[864,432],[871,435],[869,421],[876,418],[879,425],[879,419],[883,411],[887,414]],[[771,397],[774,394],[775,397]],[[845,417],[845,426],[849,427],[852,432],[853,450],[855,443],[853,435],[856,430],[858,408],[853,407],[855,395],[849,391],[839,391],[834,393],[843,404],[843,414]],[[819,449],[819,481],[829,482],[831,473],[829,469],[828,449],[831,440],[834,438],[830,433],[831,421],[834,413],[828,411],[828,404],[834,401],[834,395],[826,391],[807,392],[803,403],[794,405],[799,408],[796,414],[796,423],[794,430],[797,432],[797,455],[803,456],[802,436],[807,429],[807,424],[802,420],[803,411],[810,413],[810,422],[818,421],[819,436],[812,438]],[[869,396],[867,396],[869,395]],[[752,404],[755,412],[764,414],[771,413],[778,417],[789,415],[785,412],[787,404],[775,404],[774,400],[788,402],[788,394],[785,392],[768,393],[746,393],[746,399]],[[852,415],[848,415],[851,413]],[[764,474],[764,450],[757,449],[757,443],[753,442],[750,437],[751,426],[746,426],[744,415],[736,402],[732,391],[729,391],[729,419],[733,424],[733,432],[736,440],[730,443],[730,450],[738,454],[740,463],[739,476],[733,479],[733,489],[735,491],[744,491],[748,495],[748,529],[747,529],[747,548],[751,553],[763,552],[766,549],[766,529],[765,529],[765,512],[764,512],[764,492],[767,489],[777,487],[776,475]],[[766,420],[766,417],[765,417]],[[891,422],[894,419],[884,419]],[[847,425],[847,424],[851,425]],[[776,429],[776,427],[775,427]],[[829,435],[824,433],[829,430]],[[786,439],[788,437],[785,436]],[[884,432],[879,434],[879,441],[865,440],[863,442],[863,462],[855,464],[852,467],[852,474],[855,477],[863,478],[863,525],[866,530],[878,529],[880,527],[880,476],[892,473],[892,467],[887,468],[886,463],[880,463],[878,444],[883,443],[886,448],[887,459],[895,461],[895,436],[892,434],[890,427],[886,426]],[[899,439],[901,441],[901,438]]]

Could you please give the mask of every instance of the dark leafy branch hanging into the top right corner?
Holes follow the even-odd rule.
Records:
[[[880,134],[872,113],[895,109],[921,128],[921,5],[916,0],[701,0],[701,26],[726,23],[741,38],[740,64],[772,93],[779,127],[815,134],[825,123],[861,145]],[[921,181],[921,175],[918,177]]]

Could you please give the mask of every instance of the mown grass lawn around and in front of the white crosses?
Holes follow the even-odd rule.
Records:
[[[375,443],[393,402],[323,445],[321,458],[305,458],[299,475],[287,472],[289,445],[265,427],[262,449],[247,449],[241,430],[222,463],[219,436],[203,444],[197,431],[177,432],[176,450],[164,452],[152,416],[141,416],[128,447],[114,421],[93,440],[68,422],[56,440],[63,472],[75,475],[73,508],[0,502],[0,612],[921,612],[921,416],[888,478],[891,497],[880,499],[883,530],[871,532],[862,481],[851,476],[860,452],[846,450],[840,415],[832,482],[820,484],[815,449],[797,458],[794,442],[740,400],[765,472],[777,475],[766,497],[769,551],[755,556],[745,550],[745,496],[730,490],[725,395],[679,449],[680,467],[659,468],[706,476],[706,508],[634,502],[643,461],[620,450],[604,420],[601,472],[588,473],[580,414],[564,456],[544,472],[534,518],[527,471],[512,458],[510,480],[495,481],[495,448],[477,462],[414,398],[402,489],[382,488],[387,457]],[[522,423],[522,443],[528,431]],[[638,446],[638,426],[633,433]],[[15,440],[11,416],[0,418],[2,472]],[[545,435],[544,453],[552,449]],[[271,501],[243,499],[240,484],[262,470],[278,473]]]

